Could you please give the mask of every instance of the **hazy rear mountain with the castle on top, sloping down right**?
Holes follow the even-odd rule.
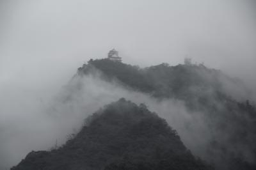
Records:
[[[184,102],[191,116],[204,120],[202,128],[208,131],[204,146],[194,144],[196,148],[189,149],[217,169],[256,169],[255,101],[239,79],[204,65],[163,63],[140,68],[108,59],[91,59],[78,68],[78,77],[87,75],[118,82],[159,101],[172,98]]]

